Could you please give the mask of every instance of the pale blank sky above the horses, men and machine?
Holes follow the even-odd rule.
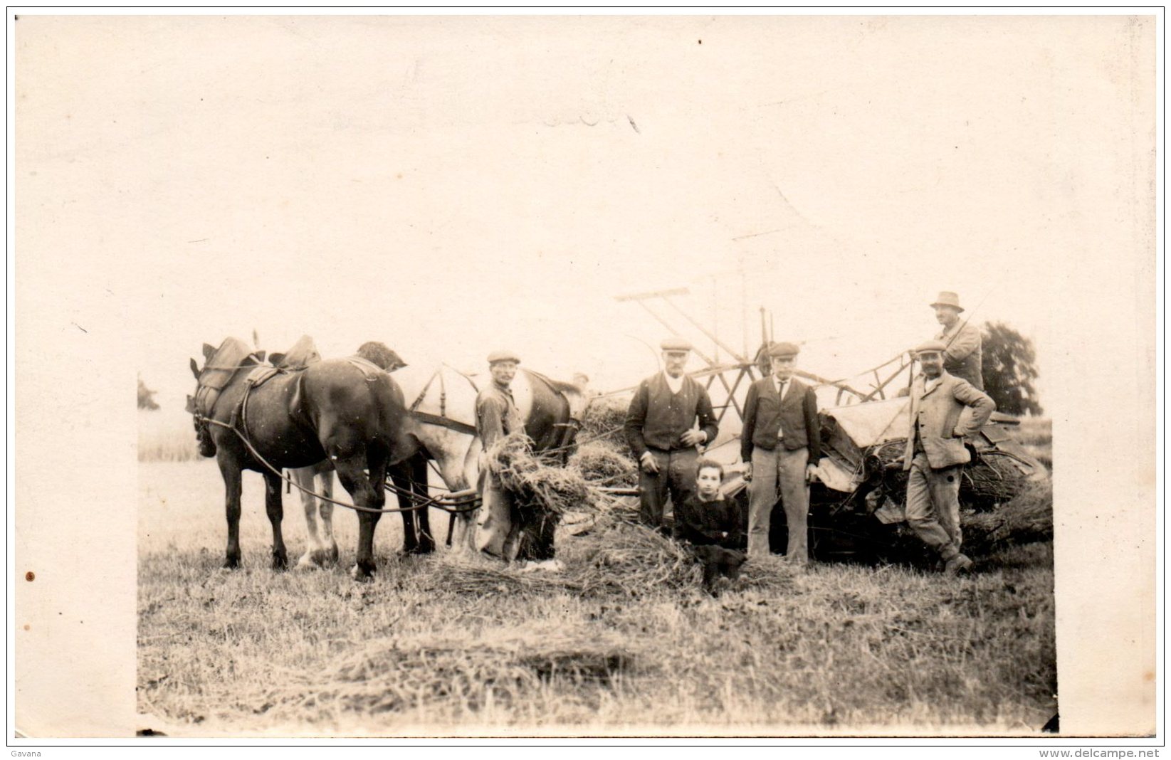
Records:
[[[614,296],[674,287],[735,347],[767,307],[831,376],[958,290],[1036,341],[1043,389],[1070,268],[1135,285],[1109,254],[1144,158],[1118,56],[1150,29],[1121,16],[18,23],[18,307],[121,311],[170,403],[203,342],[254,328],[619,388],[666,330]]]

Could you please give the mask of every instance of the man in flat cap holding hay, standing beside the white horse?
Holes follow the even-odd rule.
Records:
[[[525,429],[509,388],[516,376],[520,358],[513,351],[488,354],[492,383],[475,396],[475,434],[480,439],[480,513],[477,520],[475,546],[480,552],[506,561],[516,557],[520,548],[520,520],[508,492],[487,466],[487,452],[501,438]]]

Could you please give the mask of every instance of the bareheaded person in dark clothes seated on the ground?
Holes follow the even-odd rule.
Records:
[[[715,595],[719,578],[735,580],[745,555],[740,507],[720,493],[724,465],[701,459],[696,491],[674,511],[674,538],[687,545],[704,567],[704,590]]]

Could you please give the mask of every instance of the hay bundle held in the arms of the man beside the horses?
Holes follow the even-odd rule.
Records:
[[[589,484],[575,470],[542,461],[533,454],[533,441],[522,432],[506,436],[488,451],[488,467],[513,493],[519,506],[554,515],[594,507]]]

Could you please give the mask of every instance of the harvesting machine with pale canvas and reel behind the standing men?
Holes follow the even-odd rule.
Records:
[[[766,349],[773,340],[772,320],[766,317],[765,309],[760,310],[761,341],[748,356],[679,308],[672,296],[684,294],[685,289],[660,290],[618,300],[638,303],[672,333],[679,334],[680,326],[690,328],[718,347],[718,351],[711,352],[714,356],[693,348],[706,367],[692,372],[692,377],[706,386],[720,429],[707,456],[725,463],[728,477],[724,493],[742,501],[747,511],[746,481],[739,463],[744,400],[752,382],[769,371]],[[674,321],[664,316],[667,309]],[[730,358],[717,361],[720,352]],[[913,377],[912,364],[913,356],[903,351],[849,378],[830,379],[796,370],[797,376],[813,384],[819,397],[823,458],[810,485],[809,526],[810,547],[820,559],[878,559],[917,546],[910,540],[903,514],[908,478],[902,456],[909,426],[906,389]],[[1048,484],[1046,466],[1014,438],[1019,425],[1015,417],[994,412],[980,433],[965,441],[972,454],[971,464],[963,471],[959,494],[965,525],[989,528],[985,532],[988,535],[972,536],[977,543],[991,538],[993,528],[1006,526],[995,518],[1006,504],[1030,484]],[[1052,515],[1046,521],[1045,529],[1052,530]],[[776,532],[772,543],[783,547],[785,519],[779,507],[772,522]]]

